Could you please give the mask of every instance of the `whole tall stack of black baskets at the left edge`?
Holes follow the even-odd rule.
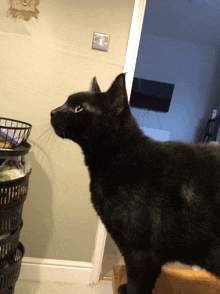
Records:
[[[31,128],[30,124],[0,117],[0,165],[10,157],[25,164]],[[25,249],[19,237],[30,174],[31,169],[25,176],[14,180],[2,177],[0,181],[0,294],[14,294],[20,274]]]

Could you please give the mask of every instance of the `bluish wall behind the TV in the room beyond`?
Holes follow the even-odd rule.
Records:
[[[171,140],[199,140],[218,103],[218,52],[189,42],[142,34],[135,77],[175,84],[168,113],[132,108],[140,126],[171,132]]]

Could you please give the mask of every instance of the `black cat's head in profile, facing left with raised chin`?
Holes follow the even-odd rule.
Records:
[[[120,74],[107,92],[100,91],[94,78],[91,92],[70,95],[51,111],[51,124],[59,137],[83,144],[119,131],[130,115],[125,74]]]

